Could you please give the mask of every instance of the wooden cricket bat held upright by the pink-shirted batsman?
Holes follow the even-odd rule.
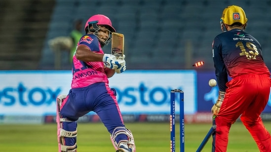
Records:
[[[121,33],[112,32],[111,54],[117,58],[123,57],[124,53],[124,35]]]

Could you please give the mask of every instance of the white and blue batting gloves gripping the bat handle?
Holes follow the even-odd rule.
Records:
[[[121,65],[125,63],[124,60],[117,60],[116,56],[111,54],[104,54],[103,62],[105,63],[105,66],[110,69],[120,68]]]

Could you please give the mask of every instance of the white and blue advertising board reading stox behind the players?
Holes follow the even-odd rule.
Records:
[[[71,71],[0,71],[0,116],[55,115],[55,98],[67,94]],[[185,92],[185,114],[210,113],[218,87],[208,85],[214,71],[126,70],[110,78],[123,114],[169,114],[170,90]],[[176,95],[178,114],[178,95]],[[271,113],[271,99],[264,110]]]

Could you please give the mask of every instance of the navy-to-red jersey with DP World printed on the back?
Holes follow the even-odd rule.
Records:
[[[213,60],[220,91],[226,91],[228,75],[268,74],[260,43],[240,29],[217,35],[213,41]]]

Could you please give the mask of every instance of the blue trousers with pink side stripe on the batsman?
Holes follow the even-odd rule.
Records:
[[[105,83],[96,83],[69,91],[62,103],[60,115],[62,118],[74,122],[63,122],[63,129],[75,131],[78,118],[91,111],[99,116],[111,134],[116,127],[125,127],[116,101],[116,92]],[[91,126],[89,128],[91,129]],[[116,142],[118,143],[120,140],[127,140],[127,136],[125,134],[118,135]],[[65,138],[65,145],[73,146],[75,143],[76,137]]]

